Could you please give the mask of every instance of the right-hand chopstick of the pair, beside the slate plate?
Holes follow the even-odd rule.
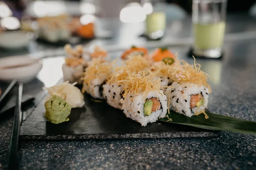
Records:
[[[21,121],[21,99],[22,99],[23,83],[19,83],[19,90],[16,99],[16,107],[13,118],[12,125],[12,136],[9,149],[9,170],[18,169],[18,141],[19,141],[19,131],[20,131],[20,121]]]

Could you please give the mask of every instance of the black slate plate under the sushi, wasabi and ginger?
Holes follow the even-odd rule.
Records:
[[[216,136],[218,132],[155,122],[142,127],[106,102],[85,96],[84,108],[72,109],[70,121],[58,125],[44,119],[44,100],[21,125],[21,140],[128,139]]]

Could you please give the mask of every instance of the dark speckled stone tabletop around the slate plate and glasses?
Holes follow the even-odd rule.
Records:
[[[227,40],[224,57],[219,59],[197,59],[202,70],[211,79],[212,94],[209,110],[227,116],[256,121],[256,30],[255,18],[245,14],[227,17]],[[188,40],[183,45],[170,46],[178,52],[180,59],[193,62],[186,56],[191,37],[191,20],[169,22],[168,34],[156,42],[147,42],[138,37],[143,25],[101,22],[104,28],[113,29],[111,40],[93,40],[111,48],[131,44],[153,47],[161,43],[172,44],[174,40]],[[134,27],[135,26],[135,27]],[[129,30],[131,27],[136,30]],[[122,32],[125,31],[125,34]],[[233,34],[234,33],[234,34]],[[240,36],[240,37],[239,37]],[[241,38],[241,40],[240,40]],[[117,46],[118,46],[117,45]],[[61,50],[61,47],[32,42],[29,50],[0,51],[0,56],[34,54],[41,50]],[[118,57],[120,51],[112,53]],[[54,85],[61,78],[63,57],[44,59],[44,67],[37,79],[24,85],[23,94],[37,97],[41,87]],[[51,73],[51,76],[48,76]],[[4,85],[0,82],[0,86]],[[15,89],[16,90],[16,89]],[[0,118],[0,169],[8,163],[8,151],[12,130],[13,113]],[[221,132],[209,138],[172,139],[115,139],[85,141],[34,141],[20,142],[20,169],[254,169],[256,167],[256,136]]]

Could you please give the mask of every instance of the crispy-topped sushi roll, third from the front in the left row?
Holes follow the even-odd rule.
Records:
[[[105,63],[101,58],[95,58],[85,69],[82,93],[86,92],[95,99],[104,99],[103,85],[107,79],[112,77],[113,69],[111,65]]]

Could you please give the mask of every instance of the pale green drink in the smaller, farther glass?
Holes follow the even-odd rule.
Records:
[[[163,37],[166,27],[166,14],[163,12],[153,12],[146,18],[146,34],[151,39]]]

